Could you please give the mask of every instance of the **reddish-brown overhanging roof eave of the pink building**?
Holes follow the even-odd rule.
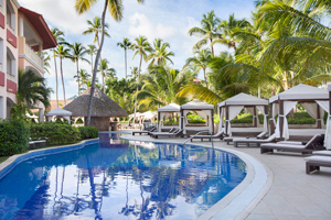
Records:
[[[44,50],[53,48],[57,45],[55,37],[53,36],[47,23],[41,14],[34,11],[30,11],[29,9],[25,9],[23,7],[21,7],[19,11],[26,16],[26,19],[39,33],[39,35],[42,37]]]

